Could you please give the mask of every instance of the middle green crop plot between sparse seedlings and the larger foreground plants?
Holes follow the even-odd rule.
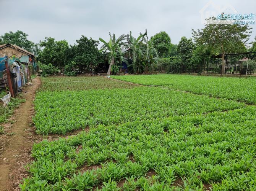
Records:
[[[161,88],[43,91],[35,100],[33,119],[41,134],[66,132],[98,124],[166,118],[174,115],[233,110],[244,103]]]

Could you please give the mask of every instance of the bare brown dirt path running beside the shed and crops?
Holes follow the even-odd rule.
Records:
[[[36,89],[40,86],[39,77],[32,80],[32,85],[23,89],[26,102],[14,111],[15,123],[9,129],[14,132],[5,145],[5,150],[0,154],[0,190],[18,189],[22,177],[26,176],[24,164],[29,162],[32,143],[37,139],[29,124],[34,113],[33,100]],[[40,138],[39,138],[40,139]],[[24,176],[25,175],[25,176]]]

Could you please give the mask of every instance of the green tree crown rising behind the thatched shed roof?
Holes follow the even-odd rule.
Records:
[[[17,30],[16,32],[10,31],[9,33],[5,33],[0,36],[0,45],[10,43],[29,52],[35,53],[36,45],[32,41],[28,40],[27,37],[28,35],[20,30]]]

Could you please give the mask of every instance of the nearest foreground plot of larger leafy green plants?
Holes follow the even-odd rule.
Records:
[[[256,108],[99,125],[33,146],[24,190],[253,189]],[[86,166],[102,164],[98,169]],[[146,178],[153,170],[156,175]]]

